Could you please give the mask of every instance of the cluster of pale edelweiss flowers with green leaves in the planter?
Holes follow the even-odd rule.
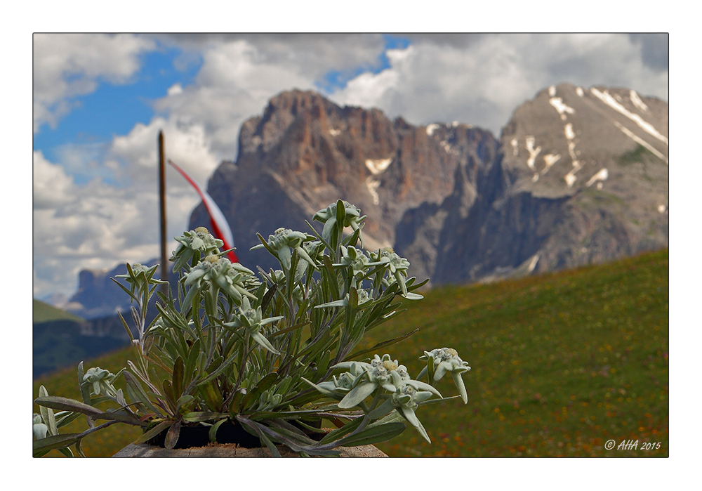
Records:
[[[406,259],[389,248],[369,254],[357,248],[364,218],[339,200],[314,215],[324,223],[321,235],[310,223],[311,234],[279,228],[268,240],[258,235],[254,249],[267,249],[282,268],[259,268],[259,277],[230,262],[223,242],[205,228],[185,232],[170,259],[180,274],[177,298],[158,292],[159,314],[148,326],[146,306],[161,283],[153,277],[157,266],[127,265],[118,277],[135,304],[138,337],[122,322],[138,357],[117,374],[84,372],[81,362],[82,402],[48,395],[42,386],[34,455],[52,449],[72,455],[71,445],[83,455],[82,438],[117,422],[143,428],[135,443],[165,432],[165,446],[173,448],[187,426],[208,427],[216,442],[230,421],[276,456],[279,444],[301,455],[336,455],[336,447],[389,440],[404,431],[404,421],[431,441],[418,407],[442,398],[435,385],[446,372],[468,402],[461,374],[470,367],[452,348],[420,357],[426,367],[418,379],[428,382],[413,379],[388,354],[352,361],[412,334],[354,352],[366,331],[401,311],[395,296],[422,298],[413,290],[423,283],[406,277]],[[344,236],[347,227],[352,233]],[[114,386],[120,376],[126,393]],[[103,410],[102,402],[117,407]],[[88,417],[86,431],[59,433],[81,415]],[[322,420],[335,429],[322,429]]]

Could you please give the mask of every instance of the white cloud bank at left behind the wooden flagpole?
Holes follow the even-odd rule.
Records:
[[[143,176],[143,169],[131,168],[137,169],[130,171],[132,185],[118,187],[100,178],[78,185],[62,166],[34,152],[35,295],[58,291],[70,296],[82,269],[110,269],[159,255],[156,166]],[[173,181],[166,197],[168,237],[175,237],[199,199],[174,172],[167,179]],[[171,240],[171,250],[175,245]]]

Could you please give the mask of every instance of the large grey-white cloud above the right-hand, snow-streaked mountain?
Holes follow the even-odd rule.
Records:
[[[667,67],[644,60],[646,43],[626,34],[417,34],[411,40],[388,51],[386,70],[360,74],[331,98],[373,105],[414,124],[458,120],[494,133],[517,105],[563,81],[668,98]]]

